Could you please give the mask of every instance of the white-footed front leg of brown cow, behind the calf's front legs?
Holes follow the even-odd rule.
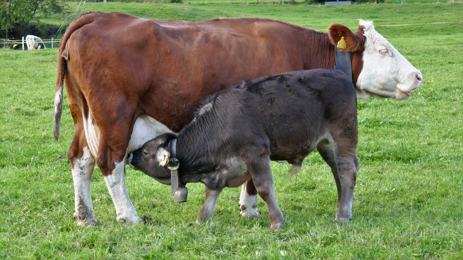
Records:
[[[257,190],[252,178],[243,183],[239,196],[239,214],[243,217],[259,218],[257,209]]]

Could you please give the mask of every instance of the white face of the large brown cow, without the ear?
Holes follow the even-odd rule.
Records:
[[[357,79],[357,97],[409,99],[412,90],[423,82],[421,72],[413,67],[381,34],[372,22],[360,20],[364,27],[363,69]]]

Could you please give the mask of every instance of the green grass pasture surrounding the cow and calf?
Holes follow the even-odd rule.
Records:
[[[463,17],[463,5],[446,4],[87,3],[84,11],[90,10],[190,20],[245,14],[315,28],[332,22],[355,27],[358,18],[387,25]],[[318,153],[307,157],[297,182],[286,178],[288,164],[272,163],[276,198],[288,223],[275,232],[260,198],[260,219],[239,216],[240,188],[224,190],[211,223],[191,226],[204,202],[203,184],[188,184],[188,202],[178,204],[169,186],[129,167],[131,200],[138,216],[150,216],[151,224],[116,222],[105,181],[95,169],[92,199],[100,224],[78,227],[72,218],[71,168],[61,158],[74,133],[67,102],[59,142],[52,137],[57,50],[0,50],[0,258],[462,259],[462,28],[378,28],[421,70],[424,84],[408,101],[358,102],[361,168],[349,224],[333,223],[336,185]]]

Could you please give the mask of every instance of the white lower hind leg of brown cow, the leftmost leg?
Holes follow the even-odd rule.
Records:
[[[70,157],[69,161],[72,166],[72,179],[74,181],[74,219],[77,220],[79,226],[95,225],[97,221],[93,215],[90,196],[90,181],[95,167],[95,159],[90,154],[88,147],[85,146],[81,158]]]

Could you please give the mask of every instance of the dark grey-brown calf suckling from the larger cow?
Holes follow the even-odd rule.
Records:
[[[357,98],[354,85],[339,70],[283,73],[219,91],[178,136],[165,133],[146,142],[128,155],[127,162],[170,184],[165,162],[175,138],[180,182],[206,185],[198,224],[211,219],[224,187],[238,187],[251,178],[269,208],[271,229],[284,229],[270,160],[286,160],[298,171],[315,148],[336,180],[336,220],[350,219],[359,168]]]

